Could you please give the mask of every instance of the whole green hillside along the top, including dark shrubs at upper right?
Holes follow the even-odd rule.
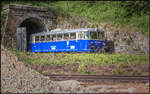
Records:
[[[3,2],[55,8],[67,14],[87,18],[93,22],[107,23],[143,34],[149,32],[149,2],[147,1],[53,1],[53,2]]]

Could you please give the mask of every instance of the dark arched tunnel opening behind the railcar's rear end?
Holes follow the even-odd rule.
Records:
[[[28,18],[20,24],[19,28],[21,27],[26,28],[26,51],[30,51],[31,34],[45,32],[45,25],[38,18]]]

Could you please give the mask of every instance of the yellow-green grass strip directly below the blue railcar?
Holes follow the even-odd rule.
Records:
[[[125,64],[132,66],[135,64],[145,64],[149,62],[149,55],[138,54],[71,54],[71,53],[31,53],[20,52],[8,48],[19,59],[27,64],[46,64],[67,66],[69,64],[81,64],[79,70],[86,65],[110,65],[110,64]]]

